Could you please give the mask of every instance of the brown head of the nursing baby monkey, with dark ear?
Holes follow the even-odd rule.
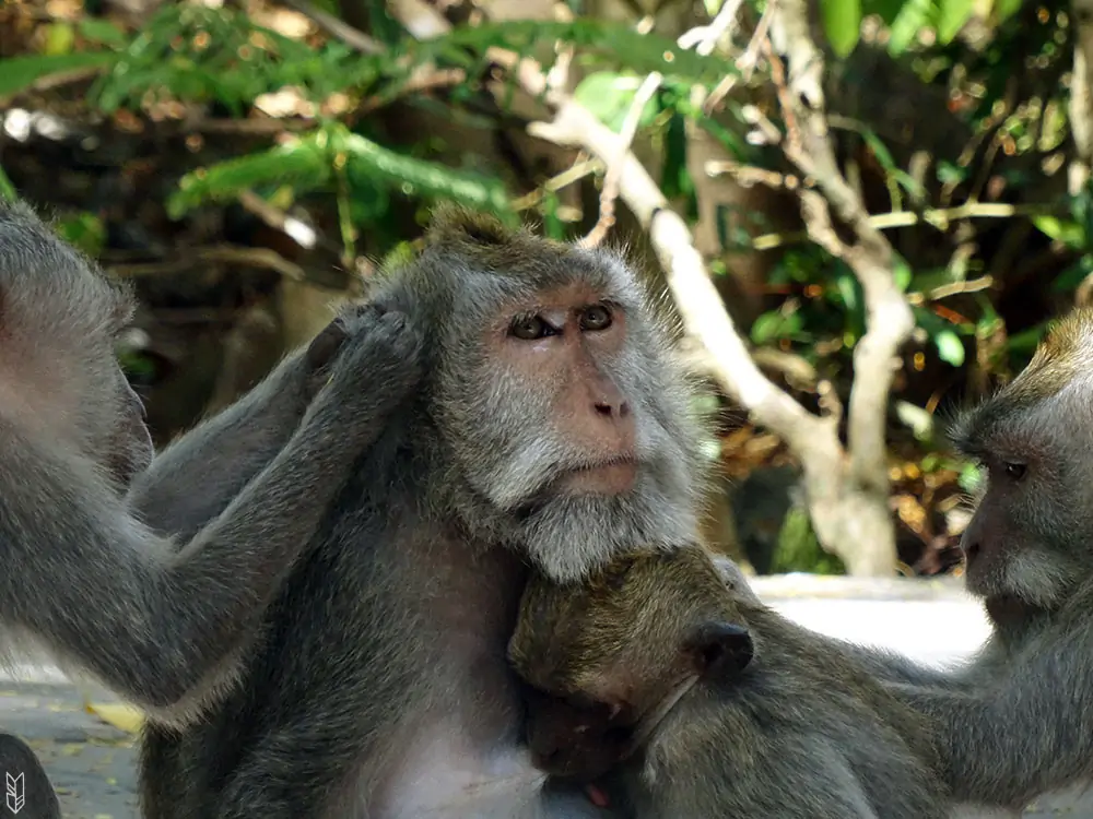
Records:
[[[530,687],[534,763],[596,779],[670,736],[696,682],[747,668],[753,644],[732,582],[698,546],[630,553],[580,584],[533,577],[509,657]]]

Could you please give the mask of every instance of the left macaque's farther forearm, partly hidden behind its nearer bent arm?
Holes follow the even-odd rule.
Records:
[[[172,443],[134,478],[129,501],[161,534],[192,537],[289,442],[309,400],[304,351]]]

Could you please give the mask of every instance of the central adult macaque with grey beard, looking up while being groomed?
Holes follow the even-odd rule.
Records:
[[[327,515],[243,684],[145,738],[150,819],[562,819],[505,656],[534,563],[576,580],[694,537],[691,390],[615,254],[449,212],[374,298],[422,389]]]

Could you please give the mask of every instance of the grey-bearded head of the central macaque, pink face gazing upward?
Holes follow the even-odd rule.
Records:
[[[439,502],[475,534],[559,580],[694,536],[692,384],[619,254],[442,211],[377,297],[426,330]]]

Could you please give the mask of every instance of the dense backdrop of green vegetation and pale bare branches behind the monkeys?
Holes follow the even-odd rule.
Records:
[[[1074,7],[9,0],[0,191],[137,282],[121,354],[161,441],[437,201],[627,242],[720,388],[707,535],[762,571],[930,574],[976,480],[945,413],[1093,281]]]

